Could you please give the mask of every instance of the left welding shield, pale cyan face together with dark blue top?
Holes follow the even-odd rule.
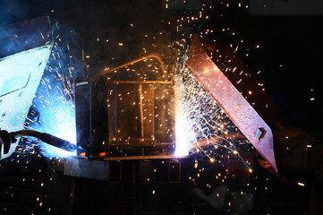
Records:
[[[0,30],[0,129],[10,133],[24,128],[53,41],[48,17],[18,22]],[[0,159],[12,155],[19,141],[9,142],[10,149],[4,148]]]

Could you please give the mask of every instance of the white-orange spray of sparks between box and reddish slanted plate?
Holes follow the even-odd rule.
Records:
[[[221,164],[225,163],[225,158],[230,159],[232,153],[251,172],[236,149],[236,144],[244,144],[246,139],[230,138],[230,135],[241,136],[242,133],[185,66],[180,67],[175,85],[175,155],[200,153],[211,163],[217,160]],[[197,162],[194,168],[198,168]]]

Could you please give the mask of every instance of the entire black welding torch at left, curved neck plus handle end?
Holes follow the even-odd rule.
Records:
[[[0,150],[4,150],[1,154],[7,154],[10,150],[11,144],[17,142],[16,138],[21,136],[36,137],[40,141],[46,142],[47,144],[50,144],[62,150],[75,151],[77,149],[77,146],[72,142],[65,141],[49,133],[40,133],[33,130],[21,130],[9,133],[5,130],[0,130]]]

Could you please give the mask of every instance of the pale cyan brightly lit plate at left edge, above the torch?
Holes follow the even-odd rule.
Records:
[[[51,46],[37,47],[0,59],[0,128],[9,132],[23,129],[32,100],[44,73]],[[9,157],[17,143],[12,144]]]

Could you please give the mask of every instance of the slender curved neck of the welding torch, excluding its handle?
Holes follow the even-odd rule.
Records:
[[[65,141],[49,133],[39,133],[33,130],[21,130],[10,134],[12,135],[12,138],[21,136],[32,136],[38,138],[42,142],[46,142],[49,145],[55,146],[62,150],[68,150],[72,152],[76,150],[76,145],[72,142]]]

